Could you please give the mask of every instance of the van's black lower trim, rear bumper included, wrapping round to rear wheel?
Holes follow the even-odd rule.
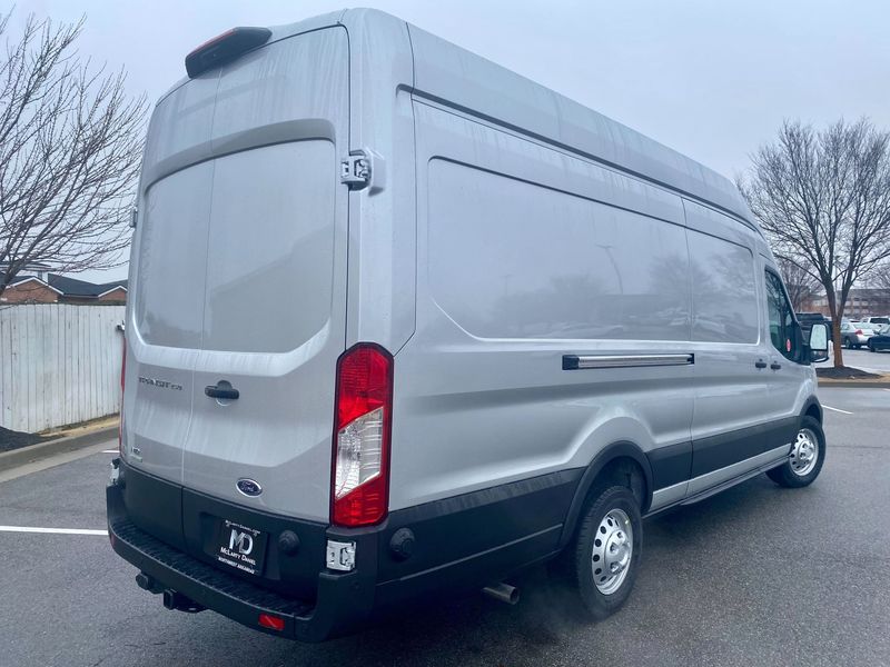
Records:
[[[347,529],[234,506],[118,465],[118,481],[106,490],[111,546],[150,577],[152,591],[179,593],[248,627],[300,641],[356,631],[372,617],[435,601],[444,593],[479,589],[554,556],[582,474],[563,470],[511,482]],[[195,518],[200,512],[231,517],[273,537],[295,531],[300,539],[295,560],[301,565],[288,569],[281,558],[271,558],[277,541],[270,541],[263,579],[220,569],[200,547],[201,521]],[[398,556],[393,545],[406,530],[414,546]],[[355,545],[353,570],[326,568],[328,540]],[[261,626],[261,614],[284,619],[284,628]]]

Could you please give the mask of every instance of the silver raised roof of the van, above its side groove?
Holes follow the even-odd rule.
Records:
[[[413,57],[414,81],[400,83],[413,89],[415,94],[514,128],[721,209],[762,236],[739,190],[716,171],[540,83],[411,23],[406,24],[392,14],[374,9],[330,12],[271,28],[269,41],[336,24],[344,26],[349,32],[378,33],[382,38],[390,38],[395,24],[399,30],[407,26],[411,40],[405,39],[395,47]],[[185,81],[188,79],[177,83],[171,91]]]

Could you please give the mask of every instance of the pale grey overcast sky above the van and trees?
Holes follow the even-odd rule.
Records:
[[[475,51],[732,177],[783,118],[890,128],[888,0],[392,0],[366,2]],[[0,0],[0,7],[10,7]],[[82,54],[156,100],[182,59],[233,26],[342,9],[303,0],[19,0],[87,27]],[[116,279],[126,269],[88,279]]]

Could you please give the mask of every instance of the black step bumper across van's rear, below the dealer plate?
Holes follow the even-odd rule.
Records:
[[[370,614],[375,579],[369,574],[363,576],[366,570],[356,568],[343,574],[323,570],[318,574],[316,601],[286,597],[202,563],[136,526],[127,516],[121,487],[107,487],[106,502],[111,547],[157,581],[158,593],[175,590],[248,627],[300,641],[323,641],[348,634]],[[362,536],[350,539],[360,542]],[[375,550],[372,545],[357,548],[359,554]],[[284,619],[284,629],[259,625],[261,614]]]

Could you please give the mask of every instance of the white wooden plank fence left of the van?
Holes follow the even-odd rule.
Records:
[[[123,306],[0,307],[0,426],[36,432],[118,411]]]

